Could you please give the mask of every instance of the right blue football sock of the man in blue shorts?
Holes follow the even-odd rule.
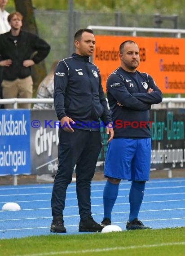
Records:
[[[130,215],[128,221],[131,222],[138,217],[141,203],[143,201],[145,183],[132,181],[129,193]]]

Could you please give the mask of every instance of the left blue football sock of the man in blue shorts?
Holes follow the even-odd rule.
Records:
[[[111,212],[115,204],[115,200],[118,196],[119,184],[113,184],[110,181],[106,181],[106,185],[103,190],[103,207],[104,217],[111,220]]]

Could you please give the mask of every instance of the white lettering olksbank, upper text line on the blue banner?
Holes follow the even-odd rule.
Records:
[[[22,120],[13,120],[12,115],[6,119],[6,115],[2,115],[0,119],[0,136],[19,136],[27,135],[25,116],[22,115]]]

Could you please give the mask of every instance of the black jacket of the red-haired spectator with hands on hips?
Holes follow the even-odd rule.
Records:
[[[32,59],[35,64],[44,60],[50,51],[50,46],[38,35],[20,31],[13,36],[11,31],[0,35],[0,61],[11,59],[12,65],[3,67],[3,79],[15,80],[31,75],[31,67],[22,65],[24,60]]]

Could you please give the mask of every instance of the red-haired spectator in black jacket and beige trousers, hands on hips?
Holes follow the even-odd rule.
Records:
[[[11,30],[0,35],[0,66],[3,66],[3,98],[32,98],[31,66],[48,55],[50,46],[38,35],[22,31],[22,14],[10,13]],[[31,104],[21,104],[31,108]],[[12,108],[12,104],[6,104]]]

